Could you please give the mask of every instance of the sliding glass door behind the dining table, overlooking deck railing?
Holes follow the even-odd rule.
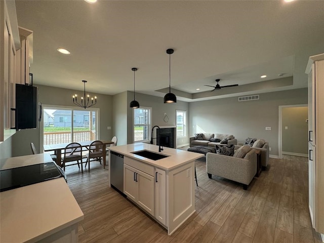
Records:
[[[97,109],[44,107],[44,145],[97,140]]]

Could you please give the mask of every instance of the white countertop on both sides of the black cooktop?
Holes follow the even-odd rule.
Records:
[[[1,161],[1,170],[42,161],[51,159],[46,154],[12,157]],[[0,193],[1,242],[35,242],[83,218],[63,177]]]

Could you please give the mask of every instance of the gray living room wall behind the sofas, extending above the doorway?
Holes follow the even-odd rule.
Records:
[[[232,134],[238,142],[247,137],[265,139],[270,154],[278,155],[278,106],[307,104],[307,88],[260,94],[259,100],[238,102],[237,97],[189,103],[189,134]],[[266,131],[265,127],[271,127]]]

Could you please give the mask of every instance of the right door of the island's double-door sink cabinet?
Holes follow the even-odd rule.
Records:
[[[136,174],[138,183],[138,204],[154,216],[154,178],[144,172]]]

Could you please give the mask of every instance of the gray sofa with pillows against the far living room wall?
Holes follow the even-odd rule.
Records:
[[[220,141],[223,139],[228,139],[227,144],[237,145],[237,139],[233,135],[230,134],[219,134],[219,133],[199,133],[196,136],[189,137],[189,146],[193,147],[196,145],[203,146],[211,146],[215,147],[215,145],[221,144]],[[215,142],[218,141],[219,142]]]

